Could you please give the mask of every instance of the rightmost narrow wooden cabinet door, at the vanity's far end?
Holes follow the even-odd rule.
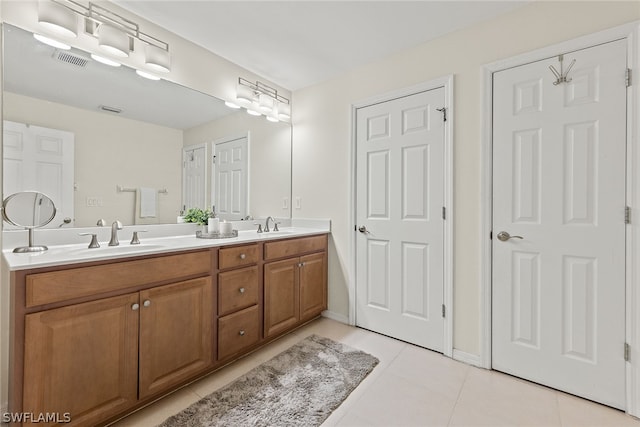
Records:
[[[300,320],[307,320],[327,309],[326,253],[303,256],[300,264]]]

